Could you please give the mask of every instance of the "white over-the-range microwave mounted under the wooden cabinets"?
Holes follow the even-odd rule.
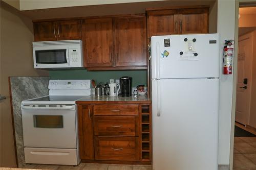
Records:
[[[34,68],[83,67],[82,41],[33,42]]]

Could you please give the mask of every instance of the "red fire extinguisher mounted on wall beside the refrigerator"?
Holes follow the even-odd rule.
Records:
[[[234,40],[225,40],[223,49],[223,74],[232,74],[232,60],[233,60]]]

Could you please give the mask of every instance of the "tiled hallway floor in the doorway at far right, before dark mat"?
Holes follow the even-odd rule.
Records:
[[[256,137],[235,137],[233,170],[256,170]]]

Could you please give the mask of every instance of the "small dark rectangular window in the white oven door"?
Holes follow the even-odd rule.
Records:
[[[63,128],[62,115],[34,115],[35,128]]]

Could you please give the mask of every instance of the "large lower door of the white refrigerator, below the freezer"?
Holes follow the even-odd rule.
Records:
[[[217,170],[219,79],[159,81],[160,116],[152,91],[153,170]]]

